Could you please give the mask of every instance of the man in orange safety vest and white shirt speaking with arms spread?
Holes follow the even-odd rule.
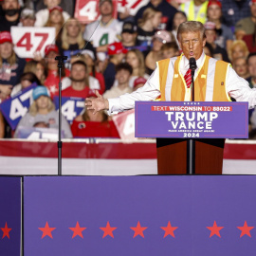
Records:
[[[248,101],[249,107],[256,105],[256,90],[250,89],[247,81],[240,78],[230,64],[205,55],[203,52],[203,47],[206,44],[205,27],[200,22],[182,23],[178,28],[177,37],[183,55],[157,62],[154,73],[143,87],[132,94],[122,95],[116,99],[104,100],[98,94],[97,99],[86,101],[87,108],[93,109],[94,113],[101,109],[107,109],[111,114],[134,108],[135,101],[154,101],[157,98],[161,98],[161,101],[191,101],[192,86],[188,86],[188,83],[186,86],[184,79],[190,67],[189,60],[191,58],[196,60],[197,65],[194,74],[195,92],[200,91],[198,81],[204,81],[205,95],[200,101],[216,101],[215,99],[229,101],[229,97],[231,97],[236,101]],[[222,70],[223,68],[221,69],[220,66],[224,66],[226,69]],[[164,69],[165,80],[162,75]],[[224,76],[223,74],[226,77],[222,82],[219,81],[219,76]],[[177,82],[174,81],[175,78]],[[215,86],[217,90],[215,90]],[[180,93],[175,94],[176,91],[180,91]],[[195,101],[198,101],[198,98],[195,97]]]

